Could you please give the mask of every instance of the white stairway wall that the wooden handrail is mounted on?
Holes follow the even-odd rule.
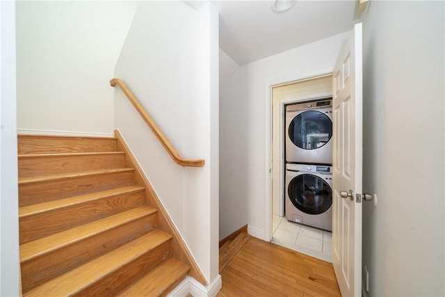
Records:
[[[140,3],[115,67],[188,159],[178,166],[115,91],[115,127],[131,147],[204,276],[218,276],[218,14],[179,1]]]

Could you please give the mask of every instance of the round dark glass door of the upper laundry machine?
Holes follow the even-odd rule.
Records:
[[[303,150],[323,147],[332,137],[332,120],[320,111],[304,111],[289,124],[289,138]]]

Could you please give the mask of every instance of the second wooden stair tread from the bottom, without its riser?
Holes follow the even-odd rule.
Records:
[[[106,278],[113,271],[117,271],[171,238],[172,235],[168,233],[154,230],[31,289],[23,296],[72,296],[80,293],[90,284]]]

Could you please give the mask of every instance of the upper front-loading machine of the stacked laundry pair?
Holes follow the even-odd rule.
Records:
[[[332,98],[286,106],[286,162],[332,164]]]

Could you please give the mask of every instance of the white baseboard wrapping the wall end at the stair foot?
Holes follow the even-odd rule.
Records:
[[[204,286],[191,276],[188,276],[183,280],[175,289],[173,289],[167,297],[186,297],[188,294],[192,296],[216,296],[220,289],[223,287],[221,275],[217,275],[216,278],[208,286]]]

